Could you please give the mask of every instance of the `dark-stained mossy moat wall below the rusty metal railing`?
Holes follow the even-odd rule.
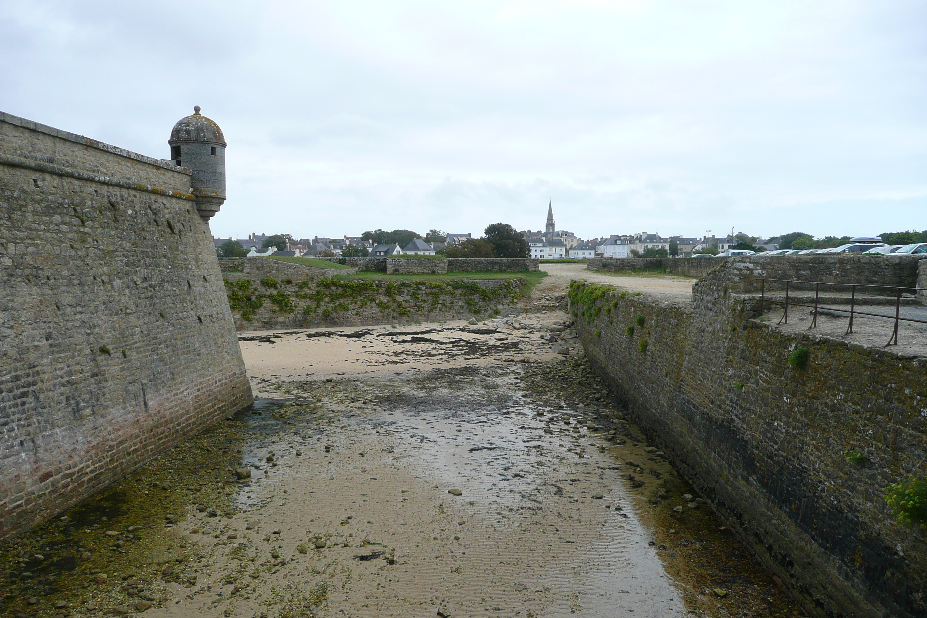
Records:
[[[809,615],[927,615],[924,531],[882,498],[927,478],[927,359],[781,334],[723,303],[578,282],[570,299],[591,365]]]

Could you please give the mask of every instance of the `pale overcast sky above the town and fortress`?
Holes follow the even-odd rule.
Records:
[[[923,0],[0,0],[0,109],[167,158],[216,236],[927,229]]]

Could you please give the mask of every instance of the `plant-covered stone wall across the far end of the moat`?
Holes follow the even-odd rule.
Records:
[[[479,281],[304,278],[256,280],[226,272],[225,290],[238,331],[317,326],[443,322],[520,313],[520,279]]]

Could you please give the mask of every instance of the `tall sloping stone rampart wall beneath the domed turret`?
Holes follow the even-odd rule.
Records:
[[[190,175],[0,115],[0,537],[251,402]]]

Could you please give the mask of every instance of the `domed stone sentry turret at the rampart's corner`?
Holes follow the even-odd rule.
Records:
[[[204,221],[219,212],[225,201],[225,137],[214,121],[193,108],[193,115],[177,121],[171,131],[171,160],[193,172],[192,193]]]

